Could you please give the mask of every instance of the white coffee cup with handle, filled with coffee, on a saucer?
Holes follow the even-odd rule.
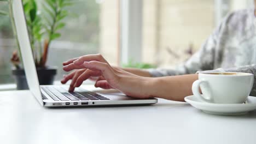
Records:
[[[197,99],[208,103],[243,103],[251,92],[253,78],[249,73],[202,73],[193,83],[192,91]]]

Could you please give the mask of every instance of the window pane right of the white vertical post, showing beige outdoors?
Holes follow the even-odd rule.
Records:
[[[143,1],[142,62],[174,67],[200,49],[223,17],[253,1]]]

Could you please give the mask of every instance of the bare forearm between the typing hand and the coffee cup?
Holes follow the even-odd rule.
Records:
[[[192,84],[198,79],[197,74],[149,78],[148,95],[154,98],[184,101],[192,95]]]

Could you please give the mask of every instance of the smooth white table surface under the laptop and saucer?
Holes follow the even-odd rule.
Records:
[[[0,92],[1,143],[256,143],[256,111],[203,113],[159,99],[147,106],[46,108],[29,91]]]

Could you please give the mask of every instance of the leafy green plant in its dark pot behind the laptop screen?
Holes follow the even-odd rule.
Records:
[[[14,36],[16,37],[16,27],[12,14],[11,3],[15,0],[0,0],[9,3],[9,17],[11,19]],[[51,42],[61,37],[60,29],[65,27],[63,19],[69,12],[67,7],[72,5],[72,0],[22,0],[26,15],[28,33],[30,35],[31,48],[34,55],[34,62],[37,68],[40,85],[52,85],[57,69],[46,65],[48,51]],[[39,9],[40,5],[40,9]],[[0,11],[0,14],[7,14]],[[12,73],[16,79],[17,89],[28,89],[25,71],[22,68],[22,57],[19,55],[19,43],[16,37],[18,50],[13,52],[11,62],[15,68]]]

